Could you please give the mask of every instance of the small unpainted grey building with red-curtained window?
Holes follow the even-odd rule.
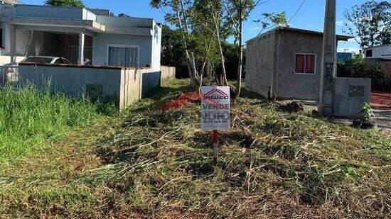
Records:
[[[337,35],[338,40],[352,37]],[[276,28],[247,41],[246,89],[279,99],[317,101],[323,33]]]

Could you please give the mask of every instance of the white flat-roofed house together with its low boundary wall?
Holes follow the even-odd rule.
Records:
[[[175,77],[174,67],[161,67],[161,24],[152,18],[0,3],[0,65],[5,64],[0,66],[0,87],[50,85],[70,96],[114,101],[124,109]],[[65,57],[73,64],[63,59],[19,62],[27,56]]]

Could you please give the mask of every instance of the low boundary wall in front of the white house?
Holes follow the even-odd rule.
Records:
[[[13,74],[9,74],[10,69]],[[4,78],[0,78],[4,86],[11,82],[21,88],[34,84],[41,90],[51,89],[77,98],[114,101],[124,110],[175,77],[175,67],[153,72],[151,68],[21,63],[19,67],[0,67],[0,76]]]

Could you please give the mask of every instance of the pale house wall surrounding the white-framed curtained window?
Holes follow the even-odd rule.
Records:
[[[108,45],[139,46],[139,67],[151,65],[151,36],[97,33],[93,38],[92,64],[107,65]]]

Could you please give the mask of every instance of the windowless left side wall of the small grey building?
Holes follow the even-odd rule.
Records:
[[[273,85],[275,33],[267,33],[247,42],[246,89],[267,96]]]

